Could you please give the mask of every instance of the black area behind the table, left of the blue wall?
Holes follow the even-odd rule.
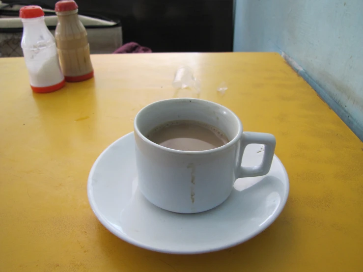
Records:
[[[6,3],[18,3],[4,0]],[[56,0],[22,0],[54,9]],[[76,0],[79,13],[120,20],[123,43],[153,52],[228,52],[233,43],[233,0]]]

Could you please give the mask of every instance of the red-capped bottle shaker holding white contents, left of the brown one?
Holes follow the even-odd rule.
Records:
[[[31,89],[37,93],[53,92],[64,86],[56,40],[44,21],[40,6],[24,6],[19,12],[23,22],[21,47],[28,68]]]

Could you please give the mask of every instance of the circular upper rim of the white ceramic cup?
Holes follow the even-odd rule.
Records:
[[[149,140],[147,137],[145,137],[139,130],[137,122],[138,119],[140,118],[140,114],[142,114],[142,112],[144,110],[146,110],[149,107],[153,107],[155,106],[155,104],[161,104],[161,103],[165,103],[167,101],[195,101],[195,102],[199,102],[199,103],[207,103],[207,104],[213,104],[217,107],[223,108],[224,110],[228,111],[234,118],[236,118],[237,120],[237,124],[238,124],[238,132],[237,135],[234,136],[229,142],[227,142],[226,144],[217,147],[217,148],[213,148],[213,149],[208,149],[208,150],[201,150],[201,151],[185,151],[185,150],[177,150],[177,149],[172,149],[172,148],[168,148],[165,146],[162,146],[160,144],[154,143],[153,141]],[[222,150],[225,150],[227,148],[229,148],[230,146],[234,145],[242,136],[243,133],[243,126],[242,126],[242,122],[241,120],[238,118],[238,116],[230,109],[224,107],[221,104],[209,101],[209,100],[204,100],[204,99],[197,99],[197,98],[170,98],[170,99],[164,99],[164,100],[160,100],[160,101],[156,101],[153,102],[147,106],[145,106],[144,108],[140,109],[140,111],[136,114],[135,119],[134,119],[134,131],[137,133],[137,135],[146,143],[161,149],[163,151],[167,151],[169,153],[173,153],[173,154],[179,154],[179,155],[205,155],[205,154],[212,154],[212,153],[217,153],[220,152]]]

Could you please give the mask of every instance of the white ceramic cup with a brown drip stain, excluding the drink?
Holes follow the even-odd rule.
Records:
[[[230,141],[205,151],[170,149],[145,135],[174,120],[193,120],[220,129]],[[176,213],[198,213],[223,203],[238,178],[269,172],[275,152],[275,136],[243,132],[240,119],[222,105],[191,98],[152,103],[135,117],[136,165],[141,193],[154,205]],[[248,144],[265,145],[262,163],[243,167]]]

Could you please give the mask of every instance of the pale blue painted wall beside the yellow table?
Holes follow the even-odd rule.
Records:
[[[236,0],[234,31],[234,51],[287,54],[363,140],[363,0]]]

